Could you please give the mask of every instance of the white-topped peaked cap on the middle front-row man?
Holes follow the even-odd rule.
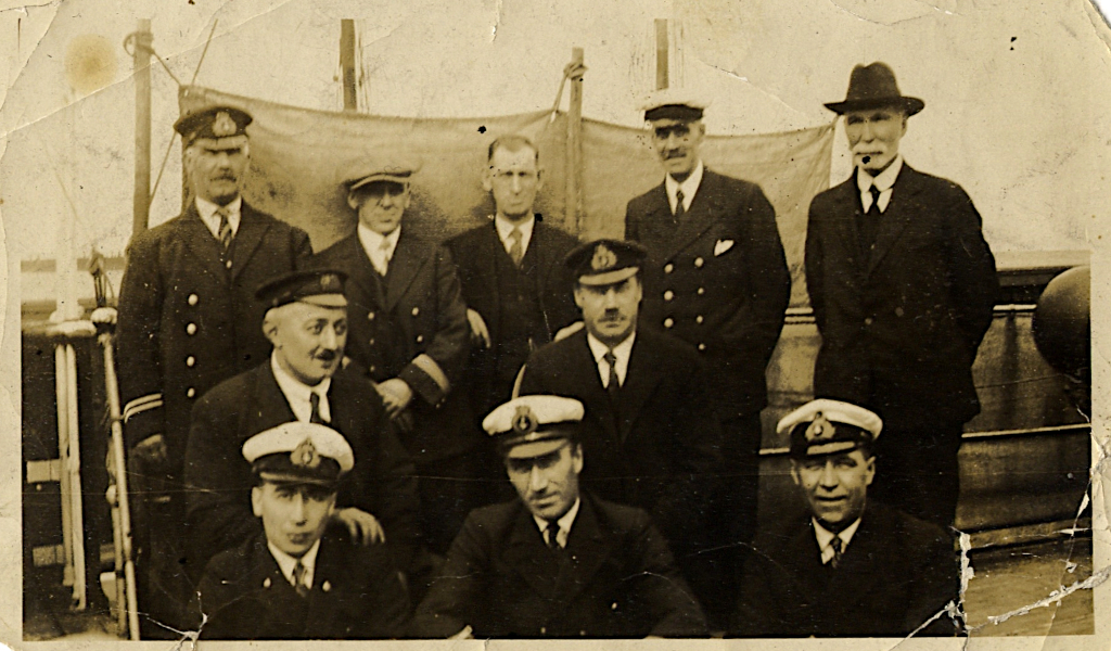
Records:
[[[560,395],[521,395],[499,405],[482,419],[507,457],[539,457],[575,439],[582,403]]]

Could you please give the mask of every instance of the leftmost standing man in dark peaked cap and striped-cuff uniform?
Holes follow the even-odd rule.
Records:
[[[136,509],[140,608],[150,613],[144,621],[182,621],[172,604],[183,589],[176,578],[177,532],[190,410],[219,382],[266,360],[269,344],[259,331],[266,308],[254,289],[312,253],[304,231],[241,196],[250,123],[250,114],[232,107],[178,120],[189,204],[128,247],[116,350],[132,479],[138,494],[151,498]]]

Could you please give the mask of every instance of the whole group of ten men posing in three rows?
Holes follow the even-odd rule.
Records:
[[[184,116],[193,200],[132,242],[119,304],[144,634],[957,632],[945,528],[997,281],[968,196],[899,154],[923,106],[883,63],[827,104],[855,171],[811,204],[818,400],[778,428],[807,514],[760,531],[791,279],[760,187],[702,161],[703,103],[644,107],[665,176],[624,240],[544,223],[540,151],[506,136],[491,223],[417,237],[419,164],[378,159],[317,253],[240,194],[251,117]]]

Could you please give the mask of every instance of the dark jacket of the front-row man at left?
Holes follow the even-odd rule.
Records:
[[[368,640],[404,634],[409,594],[380,548],[353,545],[330,529],[320,541],[312,589],[300,597],[264,535],[217,554],[200,588],[208,640]]]

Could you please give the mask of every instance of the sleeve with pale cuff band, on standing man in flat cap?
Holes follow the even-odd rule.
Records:
[[[438,247],[434,261],[437,331],[424,352],[398,374],[429,404],[439,404],[458,382],[470,352],[467,304],[451,253]]]

